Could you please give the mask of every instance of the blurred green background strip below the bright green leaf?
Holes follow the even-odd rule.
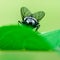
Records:
[[[60,60],[56,52],[1,51],[0,60]]]

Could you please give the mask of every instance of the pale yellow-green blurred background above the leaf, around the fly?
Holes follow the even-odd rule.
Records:
[[[23,6],[33,13],[45,11],[39,31],[60,29],[60,0],[0,0],[0,26],[17,24],[21,20],[20,8]]]

